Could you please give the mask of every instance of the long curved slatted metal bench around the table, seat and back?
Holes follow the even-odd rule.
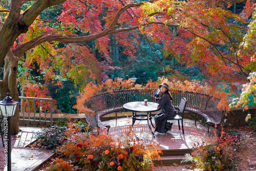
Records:
[[[123,104],[127,102],[143,101],[144,99],[155,101],[155,92],[156,89],[132,89],[96,94],[84,104],[88,109],[92,110],[91,113],[86,114],[87,122],[94,127],[106,127],[109,132],[110,125],[103,123],[101,117],[110,113],[124,111]],[[218,98],[208,94],[182,90],[170,90],[170,94],[173,96],[172,103],[176,109],[178,109],[182,97],[187,99],[185,111],[196,114],[195,124],[197,115],[204,117],[207,123],[219,124],[223,119],[223,111],[217,108],[220,102]]]

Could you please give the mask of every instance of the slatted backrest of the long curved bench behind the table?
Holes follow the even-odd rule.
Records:
[[[104,92],[92,96],[86,103],[87,108],[93,111],[101,111],[110,109],[113,107],[122,106],[124,103],[131,101],[155,101],[156,89],[144,90],[144,89],[132,89],[132,90],[117,90],[113,92]],[[220,100],[215,97],[211,97],[208,94],[182,91],[182,90],[170,90],[170,94],[173,96],[173,105],[178,108],[181,98],[184,97],[187,100],[186,108],[194,108],[204,110],[207,112],[220,111],[217,108]]]

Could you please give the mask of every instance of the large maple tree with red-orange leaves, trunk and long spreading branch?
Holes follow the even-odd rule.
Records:
[[[115,34],[116,43],[131,57],[140,48],[139,34],[150,44],[163,44],[165,56],[174,54],[178,62],[185,62],[188,67],[200,66],[210,84],[223,80],[233,87],[232,83],[246,82],[255,70],[255,61],[250,60],[253,42],[249,42],[251,51],[239,46],[246,32],[246,19],[253,11],[250,1],[240,15],[226,8],[242,1],[0,2],[0,63],[4,63],[1,99],[9,91],[18,100],[18,62],[24,68],[39,66],[37,72],[45,82],[61,84],[61,80],[73,79],[82,90],[92,79],[102,81],[106,78],[104,70],[112,67],[97,61],[94,52],[111,62],[110,34]],[[60,15],[40,19],[42,11],[61,3]],[[93,48],[84,44],[89,41]],[[21,85],[26,86],[26,81]],[[11,121],[12,134],[18,132],[17,111]]]

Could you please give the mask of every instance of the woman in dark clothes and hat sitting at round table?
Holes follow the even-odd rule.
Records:
[[[167,122],[166,124],[166,118],[176,116],[176,110],[172,105],[173,97],[170,95],[168,88],[169,85],[166,82],[160,84],[160,98],[159,96],[156,97],[156,101],[161,105],[161,107],[163,107],[163,111],[155,115],[155,131],[162,134],[165,134],[167,131],[170,131],[172,129],[173,123]]]

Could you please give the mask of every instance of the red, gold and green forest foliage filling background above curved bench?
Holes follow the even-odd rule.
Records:
[[[242,84],[255,71],[255,61],[251,59],[254,43],[249,47],[241,44],[253,20],[254,3],[142,2],[118,1],[113,5],[111,1],[66,1],[42,11],[26,34],[20,34],[14,42],[14,54],[20,56],[19,96],[52,97],[58,107],[55,112],[77,113],[73,107],[76,97],[90,82],[103,84],[109,78],[135,75],[136,84],[143,85],[159,77],[189,80],[221,88],[230,93],[230,102],[239,97]],[[20,47],[45,33],[66,37],[97,34],[111,27],[119,9],[130,3],[141,4],[125,8],[115,30],[144,22],[136,29],[77,44],[54,39],[42,41],[21,53]],[[22,13],[33,4],[33,1],[23,4]],[[3,21],[10,5],[1,1]],[[2,63],[1,79],[5,65],[6,61]],[[251,101],[247,104],[253,105],[253,95],[249,96]]]

